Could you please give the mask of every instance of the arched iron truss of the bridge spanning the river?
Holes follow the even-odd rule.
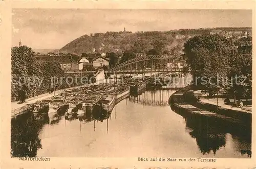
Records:
[[[167,67],[167,63],[171,67]],[[180,66],[178,66],[178,63]],[[147,55],[127,60],[106,73],[141,73],[141,72],[178,72],[185,66],[182,56],[175,55]]]

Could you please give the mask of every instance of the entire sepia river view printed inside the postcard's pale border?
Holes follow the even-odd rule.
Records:
[[[11,13],[10,157],[251,158],[252,10]]]

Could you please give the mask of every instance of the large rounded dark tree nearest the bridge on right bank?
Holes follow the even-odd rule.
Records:
[[[190,38],[184,44],[184,59],[191,69],[194,85],[208,90],[209,95],[218,92],[220,86],[225,87],[225,81],[219,78],[227,77],[233,52],[232,41],[219,35]]]

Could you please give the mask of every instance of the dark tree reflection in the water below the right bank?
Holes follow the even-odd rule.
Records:
[[[231,134],[232,141],[238,139],[234,145],[234,149],[239,151],[241,155],[247,154],[247,157],[251,157],[251,131],[249,129],[241,129],[244,126],[234,127],[227,125],[225,120],[216,120],[197,114],[189,115],[173,107],[172,109],[184,117],[187,132],[191,137],[196,139],[203,155],[209,154],[211,151],[216,154],[218,150],[225,148],[226,136],[227,134]]]

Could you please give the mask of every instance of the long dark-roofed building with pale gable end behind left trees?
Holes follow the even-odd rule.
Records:
[[[75,71],[79,69],[78,62],[74,62],[71,56],[50,56],[50,55],[36,55],[35,60],[38,63],[56,62],[60,64],[62,70]]]

